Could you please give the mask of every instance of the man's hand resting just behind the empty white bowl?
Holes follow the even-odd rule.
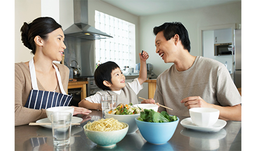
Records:
[[[191,109],[194,107],[210,107],[213,108],[211,104],[205,102],[200,96],[189,96],[182,101],[181,103],[184,103],[184,106],[187,107],[187,109]]]

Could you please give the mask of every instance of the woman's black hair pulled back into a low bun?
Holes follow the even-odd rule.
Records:
[[[20,32],[22,32],[22,42],[24,46],[31,49],[31,52],[35,54],[34,38],[39,35],[42,39],[46,40],[48,38],[47,34],[61,27],[62,26],[51,17],[38,17],[29,24],[24,22],[22,28],[20,28]]]

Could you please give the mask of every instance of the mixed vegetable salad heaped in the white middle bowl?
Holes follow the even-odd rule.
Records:
[[[133,103],[128,105],[120,104],[116,109],[109,110],[109,114],[118,114],[118,115],[129,115],[129,114],[140,114],[143,109],[140,107],[133,107]]]

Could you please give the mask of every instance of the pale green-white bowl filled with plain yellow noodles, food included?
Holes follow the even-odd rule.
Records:
[[[83,128],[86,136],[98,146],[112,148],[125,137],[129,125],[114,118],[101,118],[92,123],[89,121]]]

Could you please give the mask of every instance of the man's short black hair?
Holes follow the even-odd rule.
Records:
[[[175,34],[178,34],[184,49],[187,49],[187,51],[190,52],[189,33],[187,33],[187,30],[182,23],[180,22],[164,23],[161,26],[154,27],[153,31],[155,35],[157,35],[160,31],[163,31],[163,35],[165,36],[166,41],[174,37]]]

